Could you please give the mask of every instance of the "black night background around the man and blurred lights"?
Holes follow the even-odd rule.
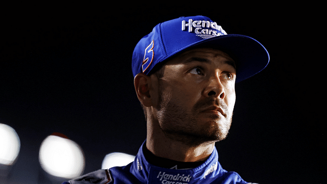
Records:
[[[133,49],[159,22],[205,15],[270,54],[264,71],[236,84],[230,133],[216,144],[222,167],[250,182],[327,183],[320,5],[17,4],[2,7],[0,22],[0,123],[21,142],[10,182],[51,183],[38,151],[53,132],[82,147],[84,173],[110,152],[135,155],[146,123]]]

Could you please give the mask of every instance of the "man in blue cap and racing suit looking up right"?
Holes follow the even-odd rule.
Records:
[[[136,45],[134,86],[147,140],[134,162],[69,183],[247,183],[218,162],[236,100],[235,83],[263,70],[258,41],[227,33],[205,16],[158,24]]]

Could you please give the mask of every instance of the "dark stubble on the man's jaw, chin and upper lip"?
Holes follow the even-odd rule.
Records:
[[[179,99],[173,99],[169,92],[163,91],[160,80],[158,84],[158,122],[162,132],[169,139],[196,146],[222,141],[226,138],[232,114],[227,111],[227,106],[222,100],[206,98],[197,102],[192,110],[188,111],[183,104],[179,103]],[[206,122],[200,123],[203,121],[199,117],[201,109],[211,105],[221,107],[225,115],[212,114],[206,118]]]

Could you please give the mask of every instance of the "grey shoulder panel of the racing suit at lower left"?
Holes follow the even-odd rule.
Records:
[[[110,171],[108,169],[100,169],[78,178],[69,180],[69,182],[64,182],[62,184],[108,184],[112,181]]]

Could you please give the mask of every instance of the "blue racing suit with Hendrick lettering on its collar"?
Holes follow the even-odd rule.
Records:
[[[145,142],[143,143],[143,145]],[[98,170],[80,176],[62,184],[193,184],[193,183],[248,183],[238,173],[227,172],[218,162],[218,152],[213,153],[200,166],[193,169],[176,170],[156,167],[147,162],[143,145],[139,149],[134,162],[123,167]]]

